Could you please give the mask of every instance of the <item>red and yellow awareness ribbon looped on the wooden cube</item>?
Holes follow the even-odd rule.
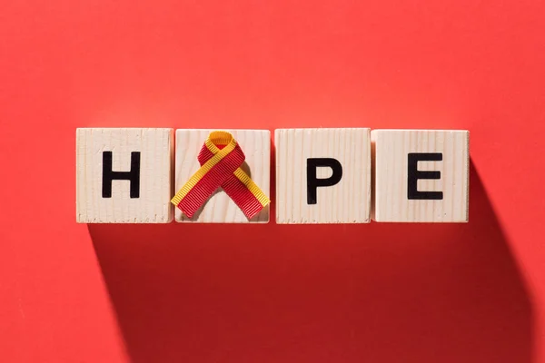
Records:
[[[211,132],[197,157],[201,169],[193,174],[171,202],[192,218],[213,191],[221,187],[251,219],[271,201],[240,168],[244,159],[243,150],[231,133]]]

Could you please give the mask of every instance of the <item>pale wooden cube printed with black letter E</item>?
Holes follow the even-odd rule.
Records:
[[[373,130],[371,134],[374,221],[468,221],[468,131]]]

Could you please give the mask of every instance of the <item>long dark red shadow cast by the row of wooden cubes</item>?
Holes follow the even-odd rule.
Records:
[[[530,363],[529,290],[472,165],[470,188],[463,224],[88,228],[134,362]]]

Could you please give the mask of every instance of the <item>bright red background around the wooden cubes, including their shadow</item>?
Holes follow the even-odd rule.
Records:
[[[545,3],[2,7],[2,361],[545,362]],[[76,224],[90,126],[468,129],[470,223]]]

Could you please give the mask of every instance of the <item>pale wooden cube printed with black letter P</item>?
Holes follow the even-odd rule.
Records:
[[[280,129],[277,223],[366,223],[371,209],[370,129]]]

